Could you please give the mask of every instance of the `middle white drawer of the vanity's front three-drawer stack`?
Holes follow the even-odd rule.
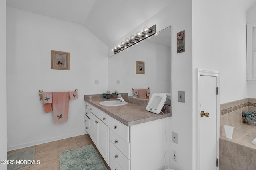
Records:
[[[112,130],[109,131],[109,140],[115,145],[126,158],[130,159],[130,143],[127,143]]]

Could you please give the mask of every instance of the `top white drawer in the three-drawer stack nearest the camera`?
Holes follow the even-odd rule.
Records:
[[[117,135],[122,137],[127,143],[129,141],[129,127],[117,121],[116,119],[110,117],[108,122],[108,127],[110,130],[114,131]]]

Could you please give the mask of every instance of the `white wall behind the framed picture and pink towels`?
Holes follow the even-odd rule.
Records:
[[[70,52],[69,71],[51,69],[51,50]],[[86,133],[84,94],[107,91],[107,50],[82,25],[7,7],[8,150]],[[44,113],[40,89],[78,89],[66,123]]]

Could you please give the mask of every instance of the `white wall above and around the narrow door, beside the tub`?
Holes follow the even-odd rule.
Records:
[[[228,0],[193,0],[192,11],[193,101],[196,68],[220,71],[220,104],[247,98],[246,11]]]

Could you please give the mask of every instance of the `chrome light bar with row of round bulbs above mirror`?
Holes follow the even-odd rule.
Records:
[[[156,25],[153,25],[152,27],[148,28],[148,27],[144,27],[143,31],[138,31],[135,35],[131,35],[130,39],[126,38],[124,41],[121,42],[120,45],[114,47],[114,49],[112,49],[111,51],[114,52],[114,54],[119,53],[125,49],[127,49],[128,47],[131,47],[132,45],[152,36],[156,34]]]

